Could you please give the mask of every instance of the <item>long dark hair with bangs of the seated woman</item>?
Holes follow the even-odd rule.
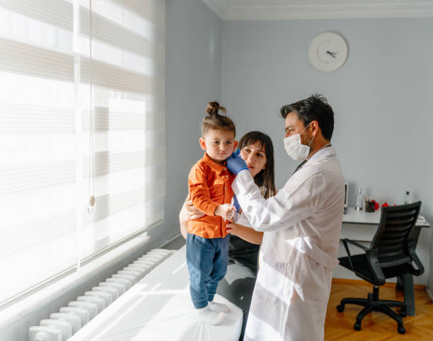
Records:
[[[239,140],[238,148],[242,150],[250,144],[255,144],[255,142],[259,142],[260,147],[265,150],[266,165],[265,169],[262,169],[255,175],[254,182],[260,187],[262,197],[267,199],[277,194],[274,173],[274,145],[267,134],[263,134],[262,132],[248,132]]]

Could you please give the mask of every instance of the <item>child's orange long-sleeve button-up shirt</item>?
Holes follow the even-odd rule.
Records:
[[[221,238],[227,236],[226,223],[221,216],[215,216],[215,209],[220,204],[230,204],[233,198],[231,183],[236,175],[229,172],[226,162],[223,165],[212,161],[206,153],[188,175],[188,187],[192,204],[206,214],[202,218],[187,222],[188,233],[203,238]]]

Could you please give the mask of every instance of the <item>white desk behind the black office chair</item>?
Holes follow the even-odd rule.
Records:
[[[381,209],[378,209],[376,212],[365,212],[365,211],[357,211],[354,207],[347,207],[347,213],[343,215],[343,224],[340,239],[349,238],[354,241],[358,241],[362,243],[366,247],[369,247],[371,241],[374,238],[374,235],[377,231],[377,227],[381,220]],[[405,301],[408,302],[408,315],[415,314],[415,306],[411,302],[413,297],[413,282],[416,284],[427,284],[427,280],[429,278],[429,269],[430,269],[430,234],[431,229],[423,229],[424,227],[430,227],[429,223],[425,224],[416,224],[415,225],[417,231],[416,233],[420,233],[417,238],[417,248],[416,253],[418,258],[420,258],[422,265],[424,265],[425,272],[421,276],[413,277],[409,275],[410,278],[405,279]],[[413,234],[413,233],[412,233]],[[352,245],[349,245],[350,253],[359,254],[363,251],[359,248],[356,248]],[[347,256],[346,250],[340,242],[340,248],[338,250],[338,257]],[[346,279],[359,279],[352,271],[346,269],[342,266],[337,266],[333,273],[334,278],[346,278]],[[390,279],[391,282],[397,282],[397,279]],[[410,292],[412,291],[412,292]]]

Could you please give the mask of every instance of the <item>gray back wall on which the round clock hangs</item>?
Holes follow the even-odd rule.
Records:
[[[308,59],[311,40],[325,31],[340,33],[349,46],[346,63],[330,73]],[[296,163],[284,152],[279,108],[323,93],[335,111],[332,142],[350,183],[349,204],[358,186],[391,204],[403,203],[410,190],[433,222],[432,37],[433,18],[227,21],[222,100],[238,136],[270,134],[282,187]],[[429,248],[429,239],[420,243]]]

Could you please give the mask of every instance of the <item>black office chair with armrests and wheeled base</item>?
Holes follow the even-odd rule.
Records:
[[[357,304],[364,309],[357,315],[354,330],[361,330],[361,321],[371,311],[386,313],[398,323],[398,333],[406,332],[403,318],[406,316],[406,304],[400,301],[379,299],[379,285],[385,284],[385,279],[413,274],[419,276],[424,272],[420,259],[415,253],[415,244],[409,241],[410,231],[414,228],[421,202],[394,207],[382,207],[381,221],[376,235],[371,241],[370,248],[366,248],[350,239],[343,239],[347,257],[338,258],[340,265],[352,270],[358,277],[374,285],[373,293],[367,299],[342,299],[337,311],[345,310],[345,304]],[[365,251],[364,254],[350,255],[347,243],[355,245]],[[417,269],[412,266],[415,263]],[[399,315],[391,307],[400,308]]]

